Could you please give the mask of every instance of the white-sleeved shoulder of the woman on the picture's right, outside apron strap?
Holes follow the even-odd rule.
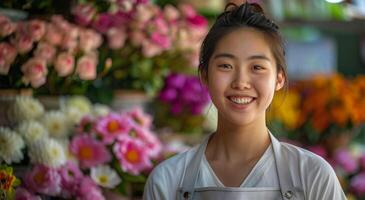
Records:
[[[281,142],[288,164],[296,170],[307,199],[345,199],[332,166],[322,157],[303,148]]]

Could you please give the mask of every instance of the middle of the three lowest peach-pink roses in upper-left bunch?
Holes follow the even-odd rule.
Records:
[[[58,54],[54,67],[58,73],[58,76],[64,77],[71,74],[74,70],[75,58],[73,55],[67,52]]]

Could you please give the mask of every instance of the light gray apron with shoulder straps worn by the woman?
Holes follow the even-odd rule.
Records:
[[[296,187],[290,173],[289,162],[281,156],[281,144],[270,133],[271,143],[274,151],[276,170],[278,174],[280,189],[260,187],[201,187],[196,188],[195,182],[199,176],[200,164],[204,155],[208,139],[200,145],[196,154],[190,161],[182,187],[177,192],[178,200],[302,200],[304,194],[301,187]],[[295,174],[294,174],[295,175]]]

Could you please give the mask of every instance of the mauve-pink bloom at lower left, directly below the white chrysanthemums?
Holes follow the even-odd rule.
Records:
[[[55,196],[61,191],[61,177],[55,169],[36,165],[25,174],[24,182],[29,189],[46,195]]]

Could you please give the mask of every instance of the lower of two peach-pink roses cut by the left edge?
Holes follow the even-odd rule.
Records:
[[[0,43],[0,74],[7,75],[17,55],[16,49],[6,42]]]

